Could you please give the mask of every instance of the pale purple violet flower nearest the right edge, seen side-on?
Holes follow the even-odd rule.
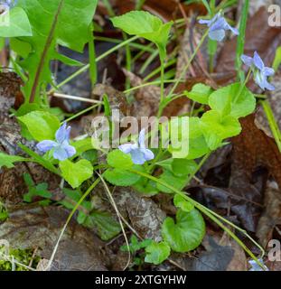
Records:
[[[254,57],[242,55],[241,61],[254,71],[255,82],[261,89],[275,89],[275,87],[267,81],[268,77],[274,75],[274,70],[265,66],[264,61],[262,61],[257,51],[254,52]]]

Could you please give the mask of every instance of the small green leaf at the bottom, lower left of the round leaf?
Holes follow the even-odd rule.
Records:
[[[159,265],[170,255],[171,248],[165,243],[153,243],[145,247],[145,262]]]

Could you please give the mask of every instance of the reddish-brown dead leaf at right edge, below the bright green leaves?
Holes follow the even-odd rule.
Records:
[[[255,126],[254,119],[254,115],[242,119],[242,133],[232,139],[233,163],[229,185],[229,189],[234,195],[245,197],[252,202],[252,205],[239,202],[237,207],[233,205],[231,207],[231,210],[240,213],[240,220],[250,231],[255,231],[257,228],[261,213],[260,205],[262,205],[267,182],[267,172],[261,171],[257,180],[253,178],[255,177],[254,172],[257,168],[266,168],[279,187],[281,185],[281,154],[275,141]],[[242,209],[241,206],[246,207]],[[243,215],[244,217],[242,217]]]

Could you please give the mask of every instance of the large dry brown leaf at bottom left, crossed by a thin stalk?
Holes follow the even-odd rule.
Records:
[[[69,211],[59,207],[23,205],[8,207],[9,219],[0,225],[0,238],[14,248],[38,247],[38,255],[50,259]],[[72,221],[66,229],[52,271],[107,270],[101,256],[102,242],[89,230]]]

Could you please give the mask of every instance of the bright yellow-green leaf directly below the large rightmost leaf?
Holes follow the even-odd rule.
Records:
[[[215,150],[224,139],[239,135],[241,126],[237,118],[221,117],[219,112],[210,110],[201,117],[201,130],[210,149]]]

